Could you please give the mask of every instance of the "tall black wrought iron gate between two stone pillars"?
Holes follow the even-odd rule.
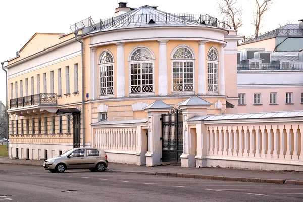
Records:
[[[162,161],[180,162],[183,153],[183,116],[182,110],[173,108],[168,114],[161,115],[162,124]]]

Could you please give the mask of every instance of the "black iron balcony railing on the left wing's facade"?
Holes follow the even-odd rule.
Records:
[[[11,99],[10,108],[18,108],[45,103],[57,103],[56,93],[40,93]]]

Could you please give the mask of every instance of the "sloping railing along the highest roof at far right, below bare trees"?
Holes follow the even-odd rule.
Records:
[[[265,38],[271,38],[275,36],[303,36],[303,29],[275,29],[269,32],[261,33],[258,37],[255,37],[255,35],[252,36],[244,36],[242,39],[242,43],[245,42],[253,42],[257,40],[262,40]]]

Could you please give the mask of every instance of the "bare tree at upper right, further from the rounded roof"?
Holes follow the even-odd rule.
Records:
[[[273,3],[273,0],[255,0],[256,1],[256,11],[254,11],[254,23],[252,25],[255,26],[255,37],[258,37],[259,30],[262,26],[260,26],[263,15],[266,11],[270,9],[270,6]]]

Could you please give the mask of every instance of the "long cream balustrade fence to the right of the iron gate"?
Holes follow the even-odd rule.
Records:
[[[207,156],[287,160],[289,164],[295,160],[294,165],[303,165],[302,128],[298,123],[207,125]]]

